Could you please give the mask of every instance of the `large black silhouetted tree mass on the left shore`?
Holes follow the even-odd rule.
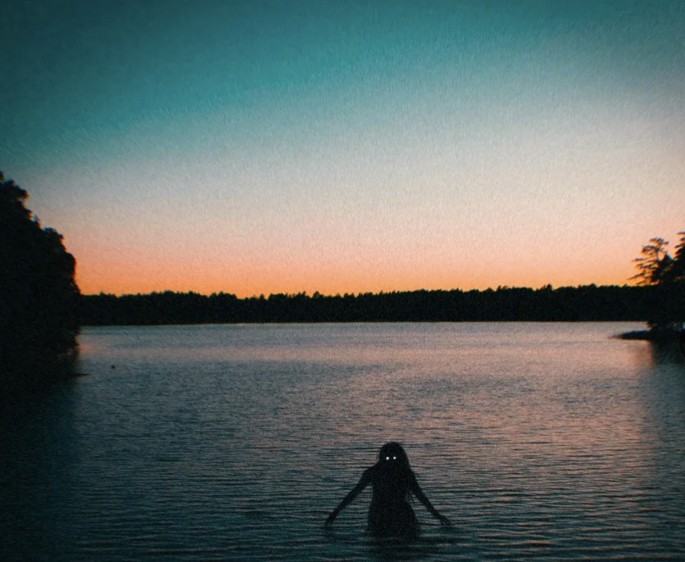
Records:
[[[0,387],[28,388],[76,355],[76,262],[61,234],[25,207],[0,172]]]

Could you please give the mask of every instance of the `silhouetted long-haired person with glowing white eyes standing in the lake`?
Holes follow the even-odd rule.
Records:
[[[440,520],[442,525],[451,525],[450,520],[438,513],[423,493],[409,466],[405,450],[399,443],[391,442],[381,447],[379,462],[364,470],[357,486],[328,515],[326,526],[330,525],[338,517],[338,513],[369,484],[374,490],[369,506],[371,533],[381,537],[415,537],[419,533],[419,522],[412,506],[407,502],[410,492],[426,506],[431,515]]]

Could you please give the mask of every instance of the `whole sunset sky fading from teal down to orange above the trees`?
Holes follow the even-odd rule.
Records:
[[[0,169],[85,293],[622,285],[685,229],[682,0],[5,0]]]

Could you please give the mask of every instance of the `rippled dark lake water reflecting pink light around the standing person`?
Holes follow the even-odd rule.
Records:
[[[684,359],[641,327],[86,328],[0,417],[0,558],[682,561]],[[369,537],[367,490],[323,530],[391,440],[453,527]]]

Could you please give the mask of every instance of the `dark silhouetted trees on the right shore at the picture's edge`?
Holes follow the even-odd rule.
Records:
[[[657,336],[669,337],[685,328],[685,232],[679,232],[675,254],[668,252],[668,242],[650,239],[636,258],[638,274],[631,279],[638,285],[653,287],[648,302],[647,323]]]

